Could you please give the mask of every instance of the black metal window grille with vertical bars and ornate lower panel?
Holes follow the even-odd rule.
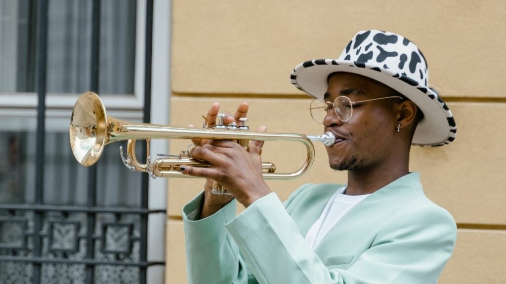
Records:
[[[48,1],[36,2],[35,66],[37,105],[34,204],[0,204],[0,275],[6,282],[145,283],[148,175],[142,175],[140,208],[97,206],[97,166],[88,169],[86,206],[44,204]],[[99,89],[100,0],[92,1],[90,90]],[[31,2],[33,4],[33,2]],[[151,108],[153,0],[146,4],[144,119]],[[145,148],[144,148],[145,149]],[[146,155],[145,150],[142,153]],[[116,277],[111,278],[115,271]],[[66,279],[62,278],[66,276]]]

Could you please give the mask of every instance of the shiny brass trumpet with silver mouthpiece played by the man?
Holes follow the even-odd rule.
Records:
[[[214,129],[197,129],[171,127],[166,125],[132,123],[122,121],[106,115],[105,107],[94,92],[83,93],[74,105],[70,119],[70,146],[76,160],[83,166],[95,164],[102,155],[106,145],[114,141],[128,140],[126,153],[119,148],[121,159],[126,167],[133,171],[147,172],[152,178],[156,177],[188,177],[179,171],[182,165],[194,167],[210,167],[207,161],[193,159],[190,155],[190,145],[186,151],[178,155],[164,155],[166,157],[151,161],[149,156],[150,139],[219,139],[234,140],[248,147],[249,140],[264,141],[294,141],[302,143],[307,156],[304,164],[294,172],[277,173],[273,163],[262,163],[265,179],[292,179],[304,174],[314,161],[314,146],[312,141],[320,141],[326,146],[332,146],[335,136],[331,132],[322,135],[304,135],[296,133],[250,132],[246,126],[246,118],[236,123],[224,125],[225,114],[219,114],[219,121]],[[136,140],[146,140],[146,163],[138,161],[135,155]],[[224,193],[224,188],[217,185],[216,192]]]

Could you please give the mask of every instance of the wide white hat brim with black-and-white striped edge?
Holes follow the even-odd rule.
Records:
[[[430,88],[419,86],[402,74],[361,62],[319,59],[299,64],[291,73],[291,82],[312,97],[323,99],[327,77],[333,72],[349,72],[381,82],[415,103],[424,113],[416,127],[412,144],[441,146],[455,138],[456,125],[446,103]]]

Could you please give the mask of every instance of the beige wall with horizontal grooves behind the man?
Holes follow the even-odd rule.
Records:
[[[424,52],[430,83],[454,114],[457,138],[449,146],[414,147],[411,170],[421,173],[426,194],[458,223],[454,256],[440,283],[506,282],[506,178],[503,162],[506,93],[506,1],[185,1],[174,0],[171,124],[201,125],[215,101],[234,110],[250,103],[250,126],[273,132],[316,134],[309,97],[289,82],[297,64],[336,58],[361,29],[400,33]],[[171,152],[186,148],[174,141]],[[281,169],[302,162],[302,151],[264,147],[265,161]],[[345,181],[328,169],[316,146],[316,161],[304,177],[269,181],[285,199],[309,181]],[[167,283],[186,283],[182,206],[202,180],[171,179],[167,216]]]

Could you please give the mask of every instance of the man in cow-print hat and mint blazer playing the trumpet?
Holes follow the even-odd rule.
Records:
[[[450,143],[456,127],[428,87],[424,56],[400,35],[361,31],[338,59],[304,62],[291,80],[316,98],[311,115],[335,135],[329,164],[348,170],[347,184],[306,184],[281,204],[262,178],[262,143],[245,151],[196,141],[191,155],[213,167],[181,167],[208,178],[183,209],[189,282],[437,282],[456,226],[409,172],[409,151]],[[209,110],[210,126],[218,109]],[[246,112],[242,104],[227,119]],[[210,194],[210,179],[231,196]],[[246,207],[238,216],[236,202]]]

